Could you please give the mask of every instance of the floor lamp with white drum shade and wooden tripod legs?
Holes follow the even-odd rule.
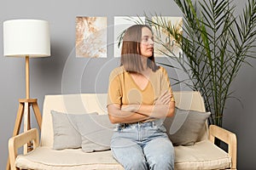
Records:
[[[6,20],[3,22],[3,55],[25,57],[26,61],[26,99],[19,99],[13,136],[20,133],[23,118],[24,132],[31,128],[30,107],[32,107],[38,127],[41,129],[42,116],[38,99],[30,98],[29,58],[50,55],[49,22],[46,20]],[[32,147],[26,144],[26,153]],[[9,170],[9,158],[6,169]]]

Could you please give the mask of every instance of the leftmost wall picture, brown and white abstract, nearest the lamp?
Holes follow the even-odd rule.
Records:
[[[107,58],[107,17],[76,17],[76,57]]]

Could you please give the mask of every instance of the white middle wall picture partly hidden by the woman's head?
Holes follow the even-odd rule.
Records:
[[[114,57],[121,56],[122,41],[119,41],[122,33],[135,24],[145,24],[145,17],[129,17],[129,16],[115,16],[113,19],[114,23],[114,34],[113,34],[113,51]]]

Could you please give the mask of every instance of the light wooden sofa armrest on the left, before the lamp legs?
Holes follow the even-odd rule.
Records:
[[[9,161],[10,167],[12,170],[15,170],[15,160],[18,156],[18,149],[24,144],[32,141],[33,150],[36,149],[39,145],[39,134],[38,129],[32,128],[25,133],[20,133],[17,136],[14,136],[9,139]]]

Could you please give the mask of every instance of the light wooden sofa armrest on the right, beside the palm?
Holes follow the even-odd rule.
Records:
[[[236,134],[225,130],[222,127],[216,125],[210,125],[209,127],[209,140],[214,144],[215,138],[222,140],[224,143],[228,144],[228,154],[231,157],[231,169],[236,169],[236,153],[237,153],[237,143]]]

